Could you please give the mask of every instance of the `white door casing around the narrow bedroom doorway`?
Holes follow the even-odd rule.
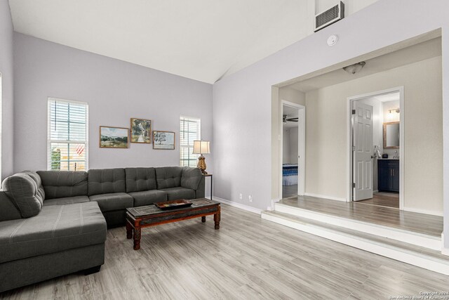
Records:
[[[278,197],[282,199],[282,164],[283,164],[283,105],[295,107],[298,110],[298,129],[297,129],[297,155],[298,159],[298,178],[297,178],[297,195],[304,195],[305,193],[305,174],[306,174],[306,107],[297,103],[293,103],[287,100],[279,101],[281,105],[279,107],[279,165],[280,165],[280,178],[279,178],[279,190]],[[300,171],[302,176],[300,176]]]

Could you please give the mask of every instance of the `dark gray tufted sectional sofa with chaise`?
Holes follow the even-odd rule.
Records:
[[[24,171],[2,188],[0,292],[100,270],[107,227],[123,225],[126,208],[204,197],[204,177],[189,167]]]

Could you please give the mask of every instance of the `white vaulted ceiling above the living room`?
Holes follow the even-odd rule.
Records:
[[[208,83],[311,34],[327,3],[337,1],[9,1],[16,32]]]

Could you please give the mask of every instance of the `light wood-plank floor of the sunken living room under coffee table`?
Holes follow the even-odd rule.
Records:
[[[5,299],[388,299],[448,291],[449,276],[264,221],[222,205],[213,219],[108,231],[100,273],[68,275]]]

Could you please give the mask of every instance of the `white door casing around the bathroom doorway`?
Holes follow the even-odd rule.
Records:
[[[354,100],[361,100],[365,98],[371,98],[374,96],[380,96],[387,93],[399,93],[399,107],[401,109],[401,115],[400,115],[400,124],[399,126],[399,209],[404,209],[404,129],[405,129],[405,105],[404,105],[404,87],[398,86],[393,89],[386,89],[382,91],[375,91],[371,93],[364,93],[362,95],[357,96],[351,96],[347,98],[346,103],[346,145],[347,145],[347,155],[346,155],[346,165],[347,165],[347,188],[346,188],[346,201],[351,201],[351,195],[352,195],[352,149],[351,149],[351,141],[352,141],[352,130],[351,130],[351,110],[352,110],[352,102]]]

